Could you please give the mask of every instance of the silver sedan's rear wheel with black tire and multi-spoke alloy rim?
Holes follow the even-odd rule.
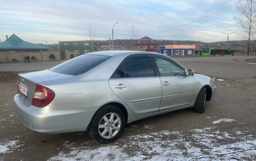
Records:
[[[122,135],[125,124],[124,112],[114,105],[107,105],[94,115],[89,134],[95,141],[108,144]]]

